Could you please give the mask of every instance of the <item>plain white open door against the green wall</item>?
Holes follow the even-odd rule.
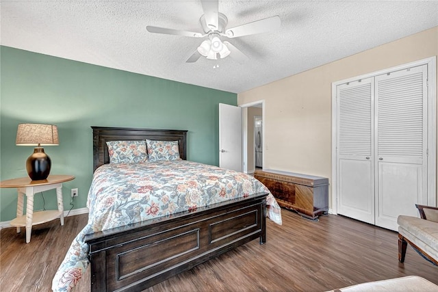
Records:
[[[242,172],[242,109],[219,104],[219,166]]]

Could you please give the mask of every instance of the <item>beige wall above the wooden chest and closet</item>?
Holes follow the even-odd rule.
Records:
[[[331,83],[435,55],[438,27],[237,94],[238,105],[265,101],[263,168],[331,181]]]

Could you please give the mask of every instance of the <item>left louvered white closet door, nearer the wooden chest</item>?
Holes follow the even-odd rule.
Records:
[[[374,224],[374,83],[337,86],[337,210]]]

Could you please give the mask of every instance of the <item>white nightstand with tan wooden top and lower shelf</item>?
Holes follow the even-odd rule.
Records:
[[[26,243],[30,242],[32,226],[42,224],[60,218],[61,225],[64,225],[64,204],[62,203],[62,183],[72,181],[75,176],[70,175],[49,175],[41,181],[31,181],[28,177],[13,178],[1,181],[2,188],[16,188],[18,190],[18,202],[16,207],[16,218],[10,222],[16,226],[16,232],[21,232],[21,227],[26,227]],[[56,189],[57,210],[37,211],[34,213],[34,194],[40,191]],[[26,214],[23,215],[24,196],[26,195]]]

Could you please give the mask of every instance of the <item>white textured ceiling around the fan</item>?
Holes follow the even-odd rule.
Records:
[[[202,32],[197,0],[0,5],[4,46],[235,93],[438,26],[438,1],[220,0],[228,28],[274,15],[281,28],[229,39],[250,58],[244,64],[189,64],[203,39],[151,34],[146,25]]]

